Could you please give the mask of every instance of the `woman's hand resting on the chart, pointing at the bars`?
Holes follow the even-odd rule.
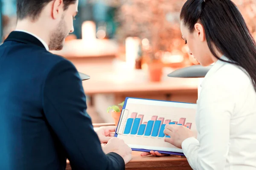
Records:
[[[170,138],[165,138],[164,141],[169,142],[178,148],[181,148],[181,144],[185,139],[195,137],[192,130],[181,125],[166,125],[163,133],[171,136]]]

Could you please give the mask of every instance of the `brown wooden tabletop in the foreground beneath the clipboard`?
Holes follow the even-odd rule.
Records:
[[[140,156],[133,151],[131,161],[125,165],[126,170],[192,170],[185,156]],[[72,170],[67,161],[66,170]]]

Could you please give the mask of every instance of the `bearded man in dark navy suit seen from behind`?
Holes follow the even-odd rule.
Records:
[[[64,170],[66,159],[73,170],[120,170],[131,160],[131,148],[108,137],[113,127],[97,136],[76,68],[48,51],[62,49],[77,8],[78,0],[17,0],[17,29],[0,46],[3,170]]]

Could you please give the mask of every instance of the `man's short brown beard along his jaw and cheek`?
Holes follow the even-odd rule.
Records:
[[[61,50],[63,48],[64,39],[67,37],[66,30],[67,27],[63,15],[57,28],[50,34],[49,50]]]

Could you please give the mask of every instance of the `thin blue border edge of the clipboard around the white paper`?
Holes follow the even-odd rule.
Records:
[[[122,110],[125,109],[126,103],[127,103],[127,100],[128,100],[128,99],[143,99],[143,98],[125,97],[125,102],[124,102],[124,105],[123,105],[123,107],[122,107]],[[155,100],[155,99],[143,99],[143,100],[154,100],[154,101],[161,101],[161,102],[174,102],[174,101]],[[174,102],[174,103],[186,103],[186,104],[193,104],[193,105],[196,105],[196,103],[188,103],[188,102]],[[122,111],[121,111],[121,113],[122,113]],[[120,118],[121,118],[121,116],[120,116]],[[117,127],[116,127],[115,137],[118,136],[118,134],[117,134],[117,129],[118,129],[118,125],[119,125],[119,122],[120,122],[120,118],[119,118],[119,121],[118,121],[118,124],[117,124]],[[137,148],[131,148],[131,150],[140,151],[140,152],[150,152],[150,151],[151,151],[151,150],[147,150],[147,149],[137,149]],[[153,150],[153,151],[157,151],[157,152],[159,152],[159,153],[164,153],[164,154],[169,154],[169,155],[185,156],[184,153],[180,153],[180,152],[161,151],[161,150]]]

